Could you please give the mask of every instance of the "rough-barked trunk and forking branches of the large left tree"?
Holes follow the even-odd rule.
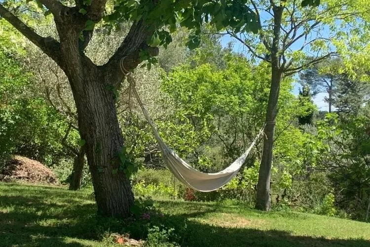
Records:
[[[158,48],[146,45],[153,27],[141,21],[132,25],[128,35],[103,66],[95,65],[83,52],[92,31],[83,31],[87,20],[97,23],[103,16],[106,0],[94,0],[85,15],[78,7],[64,6],[57,0],[40,0],[54,16],[60,41],[44,38],[20,21],[0,3],[0,15],[51,57],[65,72],[71,84],[78,115],[78,128],[85,140],[87,162],[92,176],[98,212],[102,215],[125,217],[133,205],[134,196],[129,179],[122,173],[113,174],[118,166],[116,154],[124,145],[117,120],[114,92],[124,75],[119,69],[122,62],[126,69],[139,63],[139,51],[146,49],[151,55]],[[78,2],[77,2],[78,3]],[[78,4],[77,4],[78,5]],[[79,34],[86,37],[82,42]],[[121,59],[124,60],[121,61]]]

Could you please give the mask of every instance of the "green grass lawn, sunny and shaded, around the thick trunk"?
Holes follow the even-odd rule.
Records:
[[[259,212],[231,203],[157,200],[184,220],[182,246],[369,246],[370,224],[299,212]],[[107,246],[92,191],[0,183],[0,246]],[[105,229],[101,229],[101,228]]]

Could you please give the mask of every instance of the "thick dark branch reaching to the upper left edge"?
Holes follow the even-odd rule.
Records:
[[[27,39],[37,45],[43,52],[60,65],[60,43],[51,37],[43,38],[33,29],[25,25],[21,20],[0,4],[0,15],[21,32]]]

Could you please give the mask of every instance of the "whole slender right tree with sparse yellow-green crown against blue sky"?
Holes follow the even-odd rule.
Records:
[[[256,208],[261,210],[270,209],[273,142],[282,79],[338,55],[338,46],[343,44],[340,41],[357,35],[349,31],[347,24],[361,25],[364,22],[362,14],[368,14],[369,11],[369,7],[359,6],[356,1],[349,0],[325,0],[321,1],[320,7],[304,7],[308,3],[317,6],[320,1],[251,0],[255,12],[264,20],[259,33],[226,32],[245,45],[253,57],[271,64],[271,86],[264,130],[266,138],[259,167],[256,202]]]

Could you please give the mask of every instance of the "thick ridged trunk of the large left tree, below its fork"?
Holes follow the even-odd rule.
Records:
[[[72,77],[70,81],[73,82],[78,127],[85,140],[98,213],[125,217],[129,215],[134,196],[126,175],[113,174],[113,169],[118,167],[117,154],[123,146],[114,92],[104,83],[104,73],[97,68],[81,69],[84,70],[83,82],[73,82]]]

